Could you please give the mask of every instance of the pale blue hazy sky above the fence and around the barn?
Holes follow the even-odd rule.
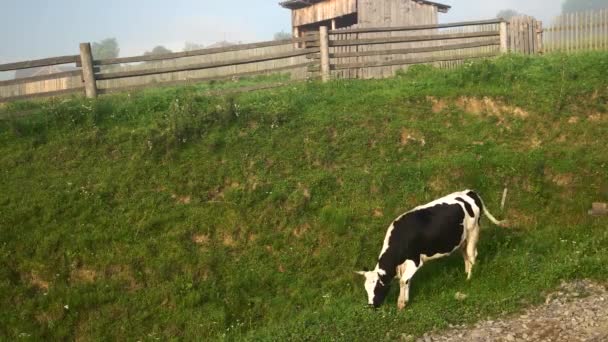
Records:
[[[289,31],[279,0],[0,0],[0,63],[76,54],[78,43],[116,37],[121,56],[186,41],[261,41]],[[513,8],[548,21],[561,0],[436,0],[452,5],[440,21],[493,18]]]

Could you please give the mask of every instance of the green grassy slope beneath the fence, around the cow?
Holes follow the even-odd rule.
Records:
[[[606,220],[586,215],[608,200],[606,75],[605,53],[509,56],[236,98],[0,109],[39,113],[0,122],[0,339],[394,339],[606,279]],[[435,113],[429,95],[529,116]],[[407,310],[396,286],[365,308],[352,271],[373,267],[396,215],[463,188],[500,214],[505,182],[517,227],[484,221],[470,283],[455,255],[416,275]]]

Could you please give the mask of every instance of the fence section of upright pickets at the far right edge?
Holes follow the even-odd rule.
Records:
[[[568,13],[553,20],[543,34],[546,52],[608,49],[608,8]]]

